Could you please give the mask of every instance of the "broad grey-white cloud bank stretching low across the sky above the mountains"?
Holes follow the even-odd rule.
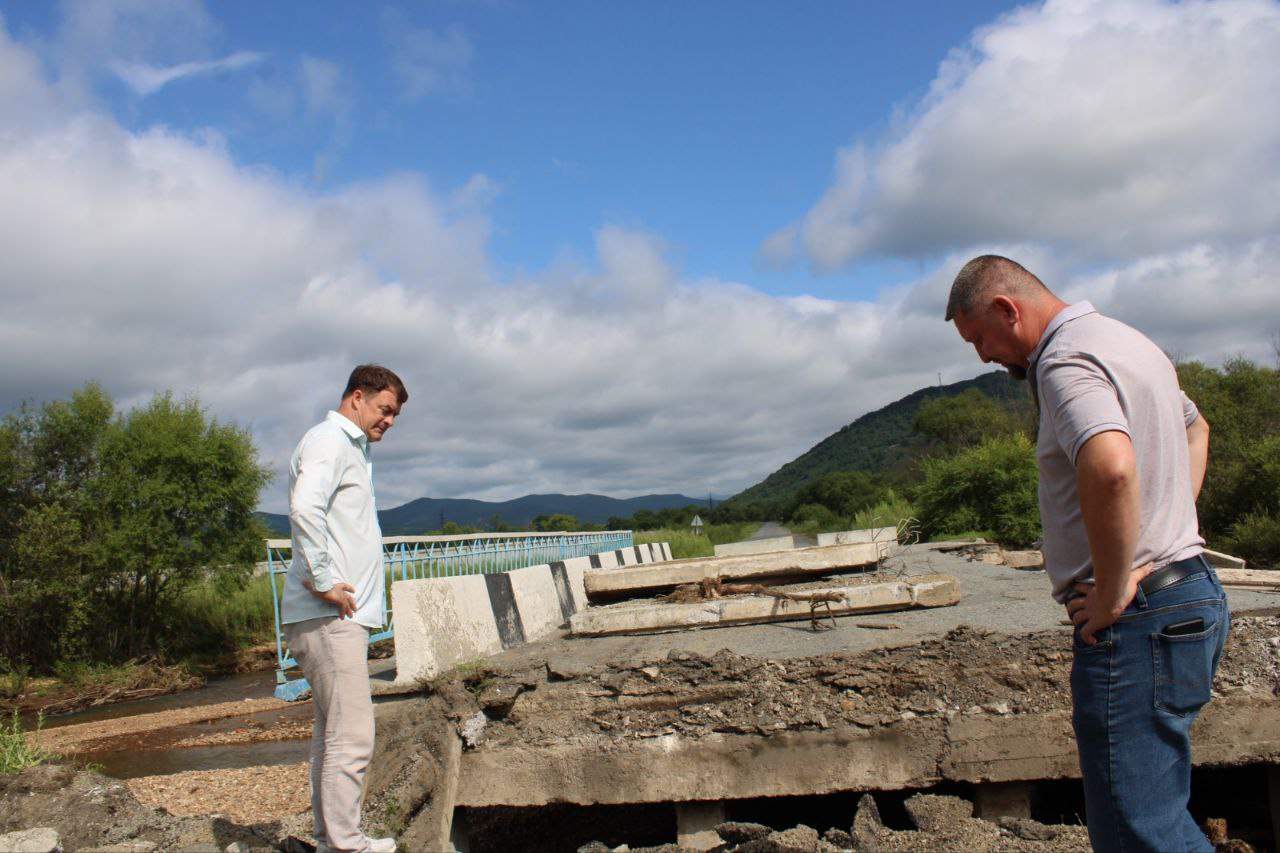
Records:
[[[936,241],[919,280],[868,302],[691,280],[659,236],[617,225],[588,260],[504,277],[486,175],[320,192],[236,163],[216,134],[120,127],[68,100],[3,29],[0,72],[0,411],[88,379],[125,405],[196,393],[283,471],[351,366],[381,361],[411,392],[378,450],[384,506],[736,491],[940,370],[980,371],[941,320],[950,277],[980,250],[1189,355],[1248,350],[1280,316],[1280,248],[1248,234],[1087,264],[1037,234]],[[315,102],[332,102],[315,79]],[[874,199],[874,184],[852,195]],[[838,220],[849,200],[832,199],[823,215]],[[282,494],[278,482],[266,506]]]

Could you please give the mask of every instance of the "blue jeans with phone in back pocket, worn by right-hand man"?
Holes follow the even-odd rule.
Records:
[[[1172,625],[1183,628],[1166,634]],[[1190,727],[1210,701],[1229,626],[1226,594],[1204,564],[1203,574],[1151,596],[1138,590],[1097,646],[1076,629],[1071,724],[1094,850],[1213,850],[1187,811]]]

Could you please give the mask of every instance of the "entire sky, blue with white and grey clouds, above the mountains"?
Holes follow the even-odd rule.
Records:
[[[1276,0],[0,3],[0,412],[196,397],[279,511],[378,361],[380,506],[730,494],[983,371],[987,251],[1270,361],[1276,55]]]

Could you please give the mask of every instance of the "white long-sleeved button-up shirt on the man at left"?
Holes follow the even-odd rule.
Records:
[[[326,592],[337,583],[356,588],[355,620],[381,628],[387,620],[383,532],[374,505],[369,439],[344,415],[330,411],[307,430],[289,460],[289,528],[293,562],[284,576],[280,621],[334,616],[303,581]]]

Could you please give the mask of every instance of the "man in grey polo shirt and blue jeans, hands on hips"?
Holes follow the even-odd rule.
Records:
[[[1020,264],[975,257],[947,320],[1030,382],[1044,569],[1075,625],[1071,704],[1097,850],[1212,850],[1187,811],[1190,725],[1226,640],[1196,498],[1208,425],[1135,329],[1068,305]]]

